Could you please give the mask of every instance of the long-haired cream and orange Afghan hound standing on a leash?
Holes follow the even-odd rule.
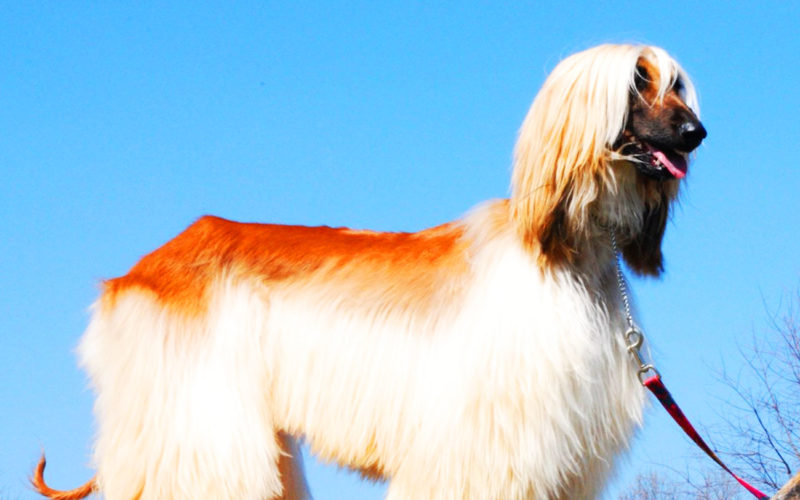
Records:
[[[598,496],[642,419],[620,253],[659,275],[706,132],[664,50],[557,65],[511,195],[417,233],[203,217],[105,281],[79,346],[96,476],[51,498],[309,496],[298,443],[397,499]]]

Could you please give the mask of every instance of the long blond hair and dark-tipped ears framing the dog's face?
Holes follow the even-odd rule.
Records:
[[[543,269],[580,257],[587,239],[596,235],[593,207],[603,195],[618,193],[610,172],[610,145],[625,126],[636,63],[642,56],[655,60],[671,78],[685,78],[661,49],[601,45],[559,63],[525,117],[514,150],[511,217]],[[687,104],[696,108],[693,87],[685,80]],[[661,269],[666,214],[657,213],[645,214],[645,224],[651,227],[627,251],[634,269],[644,274]],[[636,219],[640,223],[641,214]]]

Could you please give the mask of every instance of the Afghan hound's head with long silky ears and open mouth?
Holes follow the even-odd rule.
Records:
[[[706,135],[697,114],[691,80],[657,47],[601,45],[559,63],[512,177],[512,217],[540,266],[591,261],[612,230],[632,269],[658,275],[670,203]]]

